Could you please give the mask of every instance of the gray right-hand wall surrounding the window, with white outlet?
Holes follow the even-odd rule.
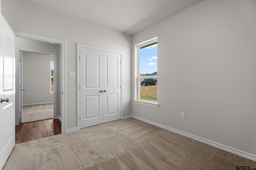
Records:
[[[132,115],[256,156],[255,25],[255,0],[204,0],[133,35],[158,36],[160,105]]]

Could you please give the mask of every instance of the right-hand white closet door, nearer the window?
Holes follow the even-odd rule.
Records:
[[[103,122],[121,119],[121,55],[104,52]]]

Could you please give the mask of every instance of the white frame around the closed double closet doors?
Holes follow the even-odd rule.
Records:
[[[121,55],[121,119],[123,119],[123,53],[118,51],[112,51],[108,49],[102,49],[98,47],[92,47],[89,45],[82,45],[77,43],[77,124],[78,124],[78,130],[80,130],[80,48],[87,48],[87,49],[93,49],[98,51],[104,51],[108,53],[116,53]]]

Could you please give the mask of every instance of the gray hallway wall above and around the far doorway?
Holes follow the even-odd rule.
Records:
[[[15,46],[16,48],[19,49],[28,49],[28,50],[34,50],[34,51],[45,51],[45,52],[51,52],[51,53],[57,53],[57,116],[61,117],[61,83],[60,83],[60,59],[58,59],[61,55],[61,46],[57,44],[52,44],[52,43],[46,43],[42,41],[36,41],[33,39],[26,39],[26,38],[21,38],[21,37],[15,37]],[[18,62],[16,62],[18,64]],[[17,66],[16,66],[17,68]],[[18,74],[18,70],[16,69],[16,76]],[[18,79],[17,79],[18,80]],[[16,82],[17,84],[18,82]],[[18,86],[18,85],[16,85]],[[18,95],[18,93],[16,93]],[[18,97],[16,97],[16,102],[18,103]],[[16,108],[16,125],[19,122],[19,117],[18,117],[18,108]]]

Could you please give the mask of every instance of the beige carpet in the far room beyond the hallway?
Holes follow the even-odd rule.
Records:
[[[53,118],[53,104],[22,106],[22,123]]]

